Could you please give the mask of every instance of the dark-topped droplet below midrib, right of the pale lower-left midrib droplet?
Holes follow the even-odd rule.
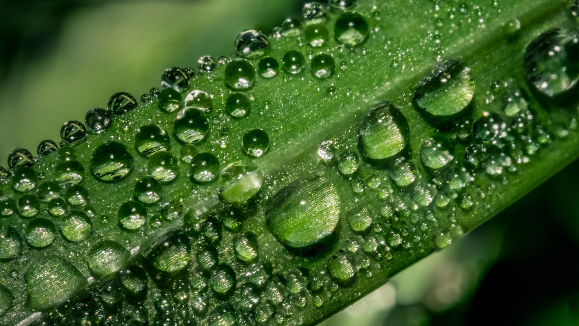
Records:
[[[183,233],[170,233],[158,240],[145,257],[157,269],[173,273],[189,264],[189,238]]]

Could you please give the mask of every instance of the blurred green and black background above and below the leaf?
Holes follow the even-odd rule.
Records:
[[[14,148],[58,141],[64,121],[83,121],[115,92],[138,99],[166,67],[233,53],[241,30],[269,32],[302,3],[3,1],[0,165]],[[579,324],[578,180],[574,162],[323,324]]]

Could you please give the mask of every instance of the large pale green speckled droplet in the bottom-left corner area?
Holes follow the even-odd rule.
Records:
[[[50,256],[26,273],[28,304],[34,310],[60,305],[87,286],[86,278],[63,258]]]

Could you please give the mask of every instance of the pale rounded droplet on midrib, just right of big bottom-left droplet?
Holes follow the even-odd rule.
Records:
[[[104,240],[91,245],[87,257],[89,268],[95,276],[111,274],[124,266],[129,251],[115,241]]]

